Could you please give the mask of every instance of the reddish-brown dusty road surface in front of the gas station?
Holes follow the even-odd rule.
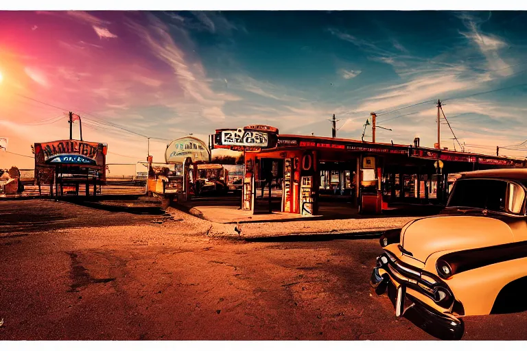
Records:
[[[433,339],[371,291],[377,239],[246,242],[160,218],[0,202],[0,339]],[[465,330],[527,339],[527,313]]]

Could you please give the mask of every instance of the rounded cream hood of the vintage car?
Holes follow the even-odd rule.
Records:
[[[492,217],[451,215],[418,219],[403,228],[401,245],[425,263],[434,252],[467,250],[512,243],[507,223]]]

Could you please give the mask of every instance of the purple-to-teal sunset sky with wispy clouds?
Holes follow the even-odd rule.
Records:
[[[163,162],[169,141],[207,141],[217,128],[331,136],[333,113],[337,136],[360,139],[375,111],[393,129],[377,141],[419,136],[433,147],[441,99],[467,150],[495,154],[527,139],[526,21],[525,12],[0,12],[0,138],[31,156],[32,143],[69,137],[71,110],[84,140],[108,143],[107,162],[145,160],[145,136]],[[442,136],[453,149],[447,125]],[[33,160],[0,151],[0,167],[12,165]]]

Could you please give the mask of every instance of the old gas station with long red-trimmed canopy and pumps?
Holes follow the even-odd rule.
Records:
[[[242,210],[317,215],[325,194],[345,195],[349,208],[381,214],[405,204],[444,205],[449,175],[462,171],[526,167],[526,160],[412,145],[345,138],[284,135],[268,125],[216,130],[211,149],[244,152]],[[257,189],[281,185],[266,195]]]

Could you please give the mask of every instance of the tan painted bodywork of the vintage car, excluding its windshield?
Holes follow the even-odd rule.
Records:
[[[460,177],[461,180],[471,178],[522,184],[519,181],[527,180],[527,170],[476,171],[462,173]],[[448,207],[445,210],[448,213],[447,210]],[[458,317],[462,316],[490,314],[500,292],[509,283],[527,277],[525,204],[522,213],[514,215],[486,210],[480,210],[477,215],[454,212],[410,221],[389,243],[382,237],[389,264],[379,261],[383,255],[379,256],[372,274],[373,287],[377,288],[379,278],[388,279],[396,289],[403,282],[406,295],[412,300],[417,299],[432,313],[454,322],[459,322]],[[461,262],[458,267],[463,269],[456,271],[457,263],[454,263],[451,267],[454,274],[441,278],[438,265],[441,260],[449,261],[452,257],[457,257]],[[454,259],[454,262],[457,261]],[[434,286],[439,284],[449,289],[453,294],[452,303],[440,306],[434,296],[426,294],[430,287],[421,284],[419,277],[426,280],[430,279],[428,276],[434,277],[430,280]]]

